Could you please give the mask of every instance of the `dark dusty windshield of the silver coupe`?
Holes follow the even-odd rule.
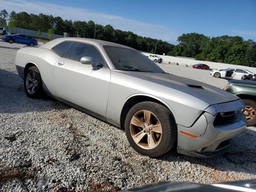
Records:
[[[164,73],[164,71],[141,52],[136,50],[104,46],[108,57],[117,70],[144,70],[148,72]]]

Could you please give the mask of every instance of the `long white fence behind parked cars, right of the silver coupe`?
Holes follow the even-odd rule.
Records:
[[[146,56],[150,56],[152,54],[144,53]],[[210,62],[210,61],[200,61],[200,60],[192,60],[192,59],[185,59],[185,58],[178,58],[178,57],[172,57],[172,56],[166,56],[166,55],[157,55],[163,59],[163,63],[169,64],[169,63],[178,63],[179,65],[184,66],[190,66],[198,63],[203,63],[208,66],[210,66],[211,69],[226,69],[226,68],[240,68],[240,69],[247,69],[251,72],[256,73],[255,67],[247,67],[242,65],[232,65],[232,64],[226,64],[226,63],[216,63],[216,62]]]

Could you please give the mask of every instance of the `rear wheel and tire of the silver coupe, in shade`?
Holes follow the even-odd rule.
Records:
[[[33,90],[34,88],[34,90]],[[44,95],[42,78],[36,66],[28,68],[24,75],[24,89],[29,98],[38,99]]]

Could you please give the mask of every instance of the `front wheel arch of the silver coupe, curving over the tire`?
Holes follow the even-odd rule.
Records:
[[[129,96],[123,105],[121,115],[120,115],[120,128],[121,129],[124,130],[125,118],[126,118],[128,111],[130,110],[130,108],[132,108],[132,106],[134,106],[140,102],[144,102],[144,101],[152,101],[152,102],[156,102],[158,104],[165,106],[166,108],[168,108],[170,110],[170,112],[174,118],[174,121],[176,122],[175,116],[174,116],[174,114],[175,114],[174,110],[166,102],[164,102],[160,98],[157,98],[156,96],[152,96],[149,94],[134,94],[134,95]]]

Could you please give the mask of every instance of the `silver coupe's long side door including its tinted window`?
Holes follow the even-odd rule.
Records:
[[[84,56],[93,57],[102,67],[93,70],[91,65],[82,64],[80,58]],[[54,65],[54,84],[56,94],[62,100],[106,116],[110,69],[93,45],[71,42]]]

